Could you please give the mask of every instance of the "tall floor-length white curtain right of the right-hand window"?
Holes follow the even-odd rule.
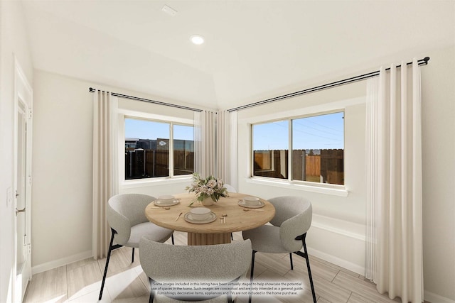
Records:
[[[422,302],[420,67],[380,70],[368,80],[365,277],[391,299]]]

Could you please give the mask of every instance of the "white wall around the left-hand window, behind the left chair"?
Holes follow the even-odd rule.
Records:
[[[34,78],[32,267],[36,273],[92,255],[93,94],[89,87],[176,101],[41,70],[35,70]],[[150,105],[140,101],[119,99],[119,106],[129,111],[151,111]],[[192,111],[166,106],[153,106],[152,111],[179,119],[193,117]],[[189,182],[121,184],[119,191],[156,197],[183,192]]]

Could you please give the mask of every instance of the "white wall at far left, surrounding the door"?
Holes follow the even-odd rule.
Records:
[[[33,68],[19,1],[0,1],[0,302],[11,301],[14,255],[14,204],[7,204],[13,191],[14,57],[29,83]]]

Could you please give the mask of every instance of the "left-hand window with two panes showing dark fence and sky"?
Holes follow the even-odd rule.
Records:
[[[193,173],[193,126],[125,118],[124,133],[125,180]]]

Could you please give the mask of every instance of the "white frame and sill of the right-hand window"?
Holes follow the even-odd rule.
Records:
[[[251,121],[250,124],[250,182],[266,182],[267,184],[273,183],[275,185],[280,184],[281,186],[287,187],[289,185],[299,186],[302,189],[308,190],[309,192],[326,192],[324,189],[328,189],[329,193],[347,196],[348,192],[346,191],[346,170],[343,168],[343,184],[330,184],[330,183],[321,183],[321,182],[311,182],[311,181],[302,181],[302,180],[293,180],[292,179],[292,153],[289,153],[289,150],[293,150],[292,145],[292,121],[296,119],[302,118],[309,118],[314,116],[323,116],[326,114],[336,114],[336,113],[343,113],[343,119],[346,118],[346,111],[344,108],[338,109],[330,109],[325,111],[311,111],[305,114],[293,115],[293,116],[282,116],[277,119],[264,119],[260,121]],[[276,178],[276,177],[262,177],[262,176],[255,176],[255,159],[254,159],[254,133],[253,133],[253,126],[257,124],[264,124],[264,123],[273,123],[274,121],[288,121],[288,159],[287,159],[287,178]],[[343,153],[346,153],[346,121],[343,121]],[[346,157],[343,156],[343,167],[345,165]],[[334,192],[332,191],[334,190]],[[339,191],[337,193],[337,191]]]

